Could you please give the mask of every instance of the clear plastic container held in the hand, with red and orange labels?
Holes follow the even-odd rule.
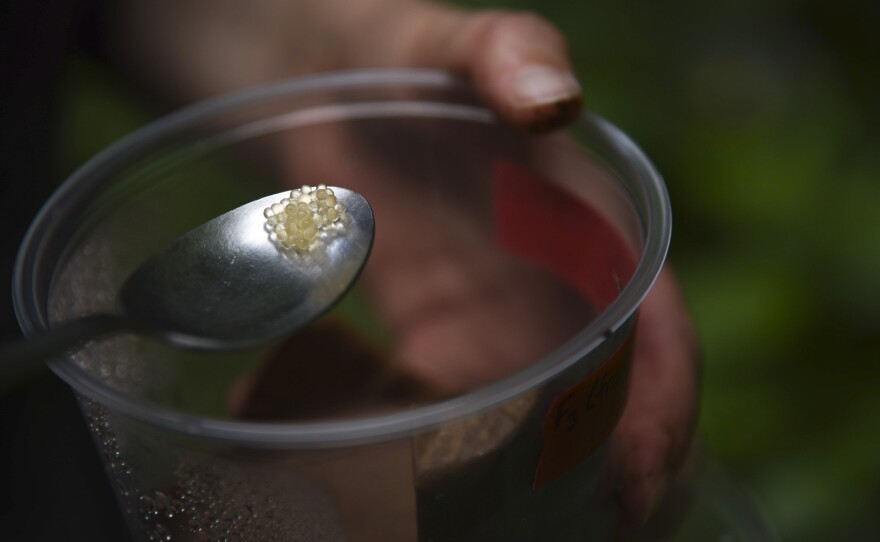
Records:
[[[361,192],[360,283],[266,348],[136,336],[52,360],[142,540],[611,540],[605,443],[637,309],[664,260],[664,185],[586,113],[531,137],[433,71],[299,78],[123,139],[47,202],[14,296],[27,335],[113,310],[188,229],[279,187]]]

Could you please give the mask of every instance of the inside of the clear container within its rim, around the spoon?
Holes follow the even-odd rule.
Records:
[[[102,171],[54,271],[51,321],[114,310],[150,254],[285,187],[361,192],[376,240],[339,308],[281,344],[217,354],[125,335],[75,361],[177,411],[301,421],[460,394],[565,344],[632,275],[634,210],[573,140],[523,138],[449,96],[415,101],[437,93],[280,97]]]

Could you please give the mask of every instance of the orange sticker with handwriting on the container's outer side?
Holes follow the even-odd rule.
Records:
[[[626,403],[635,327],[604,365],[553,399],[544,417],[544,446],[534,487],[589,457],[614,430]]]

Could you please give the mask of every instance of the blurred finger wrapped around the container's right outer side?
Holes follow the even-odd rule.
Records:
[[[696,333],[666,269],[642,304],[629,398],[614,434],[619,499],[644,523],[690,446],[697,411]]]

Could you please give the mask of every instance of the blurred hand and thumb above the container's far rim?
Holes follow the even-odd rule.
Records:
[[[438,68],[473,81],[504,119],[564,125],[580,108],[562,34],[524,12],[422,0],[127,0],[109,25],[119,68],[177,105],[327,70]]]

